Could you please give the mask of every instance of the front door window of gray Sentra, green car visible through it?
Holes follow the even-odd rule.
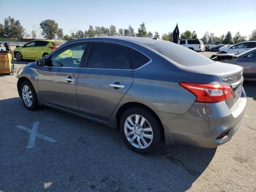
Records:
[[[79,67],[86,44],[70,45],[53,54],[50,66],[54,67]]]

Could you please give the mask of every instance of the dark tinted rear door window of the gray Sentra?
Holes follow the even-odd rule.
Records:
[[[87,67],[130,69],[127,48],[114,44],[94,43],[92,44]]]

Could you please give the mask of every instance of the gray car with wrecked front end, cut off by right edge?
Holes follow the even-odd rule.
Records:
[[[210,59],[242,66],[244,68],[244,79],[256,81],[256,48],[242,54],[214,54]]]

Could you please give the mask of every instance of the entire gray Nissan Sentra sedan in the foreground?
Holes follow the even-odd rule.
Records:
[[[68,42],[17,72],[24,106],[45,105],[120,130],[140,154],[165,142],[212,148],[240,126],[243,68],[138,37]]]

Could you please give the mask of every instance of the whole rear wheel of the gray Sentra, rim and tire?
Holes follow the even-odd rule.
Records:
[[[120,130],[127,146],[139,154],[153,153],[163,138],[159,120],[142,107],[132,107],[124,112],[120,119]]]

